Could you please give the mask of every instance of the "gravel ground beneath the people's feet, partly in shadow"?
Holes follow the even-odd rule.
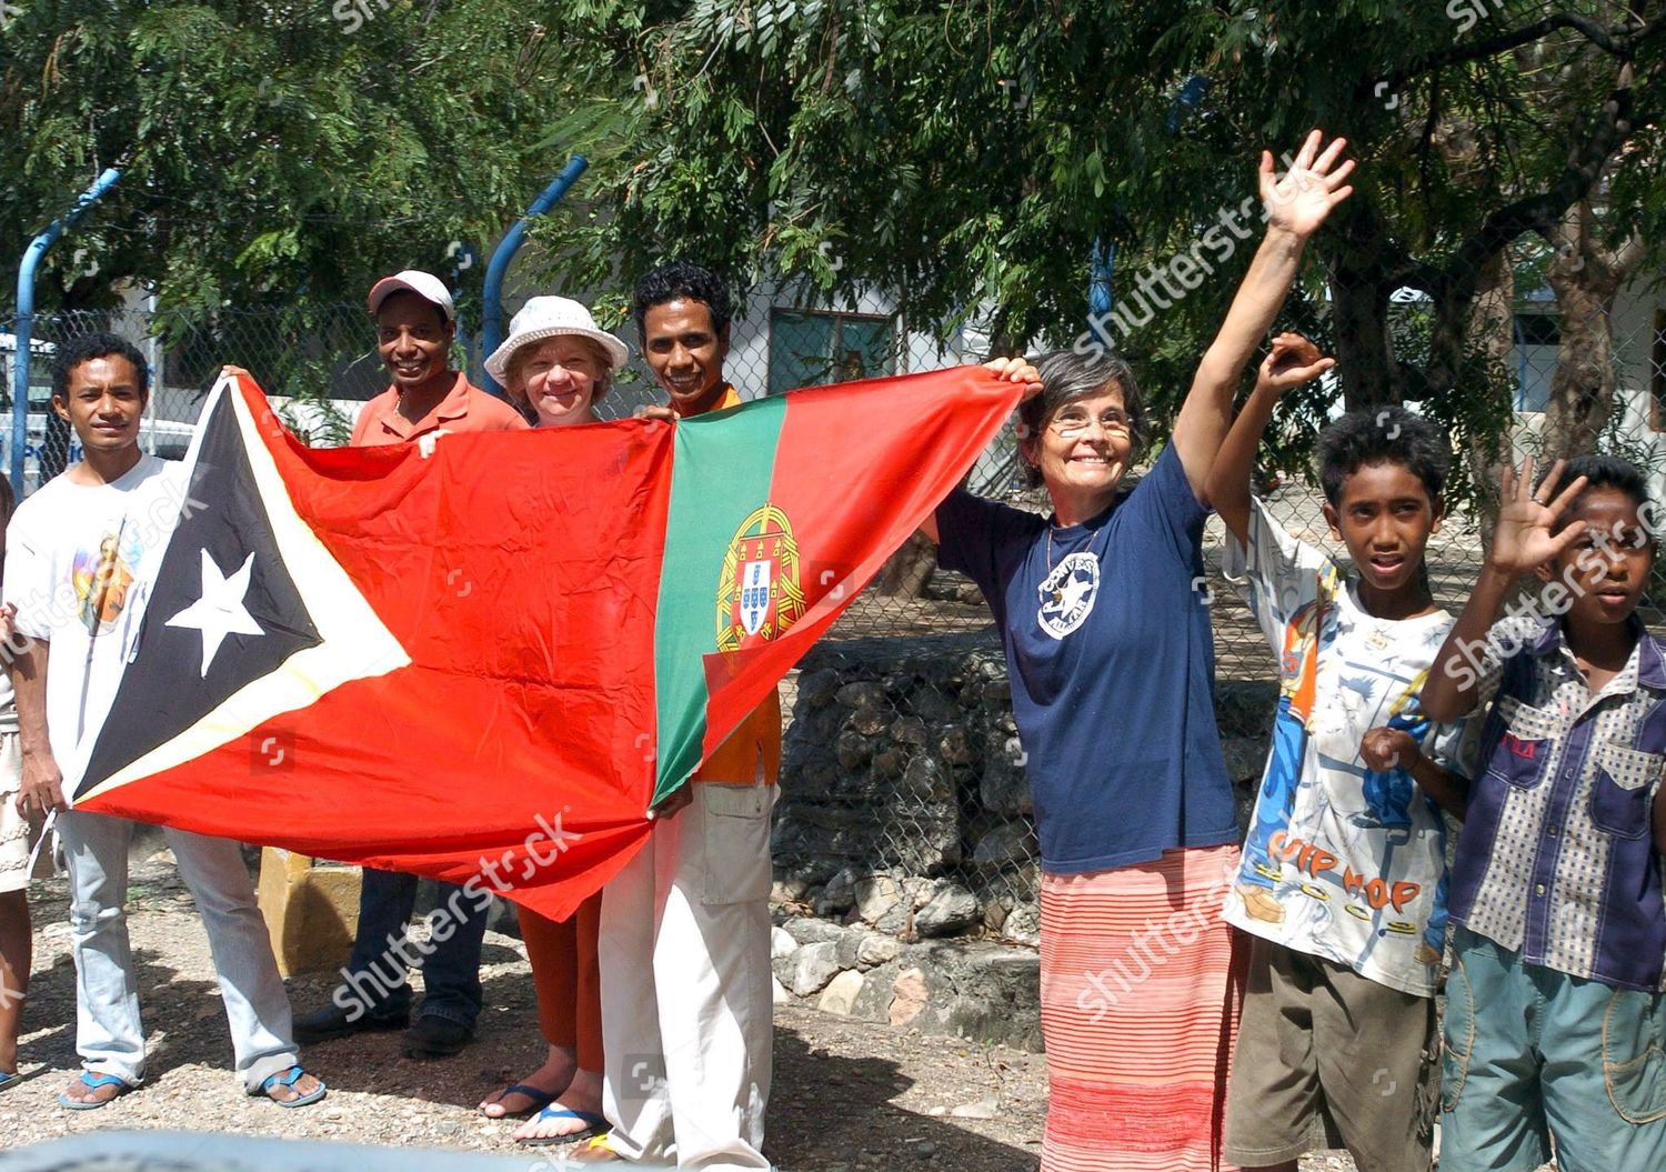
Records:
[[[95,1112],[55,1097],[75,1070],[75,972],[62,879],[37,884],[35,970],[23,1035],[28,1080],[0,1094],[0,1145],[93,1129],[187,1129],[247,1135],[513,1152],[513,1122],[475,1105],[543,1050],[521,945],[490,934],[483,955],[486,1010],[461,1054],[418,1062],[397,1035],[370,1034],[312,1047],[310,1070],[330,1097],[303,1110],[248,1099],[230,1072],[232,1049],[207,939],[172,862],[135,862],[130,930],[150,1032],[147,1085]],[[323,1004],[330,982],[290,984],[298,1007]],[[793,1005],[776,1010],[770,1154],[783,1172],[938,1167],[1026,1172],[1040,1159],[1046,1114],[1041,1055],[866,1025]],[[1318,1154],[1303,1172],[1353,1172]]]

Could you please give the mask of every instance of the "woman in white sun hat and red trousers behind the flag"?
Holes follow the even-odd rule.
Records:
[[[596,327],[590,310],[566,297],[533,297],[510,322],[510,335],[486,370],[533,427],[596,422],[595,403],[630,350]],[[538,990],[538,1027],[550,1044],[545,1064],[480,1104],[491,1119],[531,1115],[515,1130],[530,1147],[566,1144],[606,1130],[601,1117],[601,979],[596,927],[601,895],[555,922],[520,909],[521,939]]]

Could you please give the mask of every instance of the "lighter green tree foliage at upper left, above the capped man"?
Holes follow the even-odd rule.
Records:
[[[548,30],[498,0],[15,0],[0,30],[0,263],[103,167],[45,308],[122,278],[165,308],[328,305],[483,253],[565,155]],[[478,280],[478,270],[471,273]]]

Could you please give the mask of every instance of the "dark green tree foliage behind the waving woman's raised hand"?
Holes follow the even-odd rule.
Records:
[[[1125,305],[1201,252],[1196,292],[1113,330],[1163,410],[1250,252],[1200,242],[1253,193],[1259,147],[1319,125],[1354,142],[1359,192],[1293,323],[1341,348],[1349,403],[1421,400],[1496,435],[1519,245],[1598,190],[1616,238],[1661,215],[1661,8],[581,2],[563,7],[563,45],[593,100],[566,133],[628,152],[590,187],[598,215],[546,238],[568,280],[686,253],[738,282],[881,288],[916,328],[993,305],[1020,345],[1078,335],[1095,242],[1116,248]],[[1311,437],[1316,408],[1298,403],[1293,435]]]

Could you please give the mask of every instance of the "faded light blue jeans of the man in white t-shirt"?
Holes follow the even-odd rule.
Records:
[[[145,1030],[123,909],[133,824],[67,810],[58,815],[58,834],[70,865],[75,1049],[87,1070],[137,1085],[145,1077]],[[255,885],[238,844],[173,827],[163,834],[208,932],[238,1077],[245,1090],[255,1092],[297,1060],[290,999],[255,904]]]

